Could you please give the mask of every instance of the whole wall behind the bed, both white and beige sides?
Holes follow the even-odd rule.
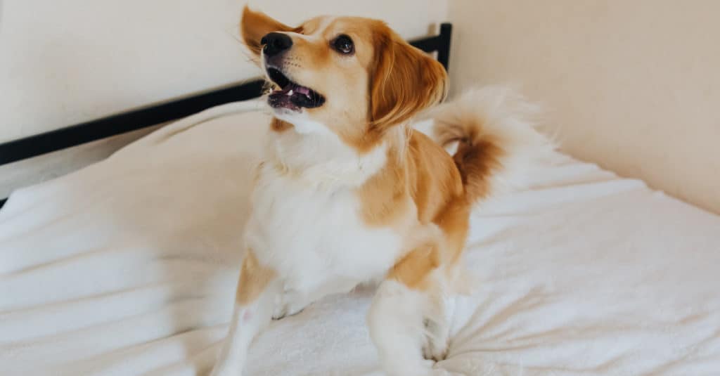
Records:
[[[244,3],[0,0],[0,142],[256,76],[234,38]],[[520,84],[564,151],[720,212],[720,1],[251,5],[287,23],[379,17],[405,37],[449,19],[454,92]]]

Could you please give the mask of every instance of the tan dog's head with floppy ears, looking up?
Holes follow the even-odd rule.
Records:
[[[364,149],[446,92],[443,66],[381,21],[317,17],[290,27],[246,6],[240,31],[274,84],[275,116],[300,133],[330,131]]]

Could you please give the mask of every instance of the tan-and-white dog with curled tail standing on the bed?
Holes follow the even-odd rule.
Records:
[[[530,107],[491,88],[431,109],[446,96],[444,67],[375,19],[290,27],[246,6],[240,32],[273,87],[274,118],[212,375],[241,375],[271,318],[368,281],[378,283],[367,321],[382,369],[430,374],[467,287],[471,208],[546,144],[523,118]],[[435,140],[411,126],[428,109]]]

